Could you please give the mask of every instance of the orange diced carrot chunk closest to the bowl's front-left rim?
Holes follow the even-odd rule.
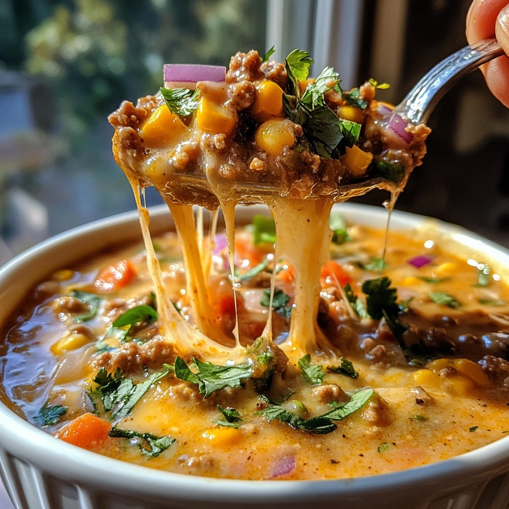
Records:
[[[66,424],[54,436],[83,449],[93,450],[108,438],[110,429],[108,421],[86,413]]]

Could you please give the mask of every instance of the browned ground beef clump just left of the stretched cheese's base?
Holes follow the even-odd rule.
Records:
[[[121,371],[129,374],[145,367],[158,370],[164,363],[173,364],[177,355],[171,343],[157,336],[143,345],[124,343],[117,350],[100,353],[92,361],[92,366],[95,369],[105,367],[107,371],[116,371],[120,367]]]

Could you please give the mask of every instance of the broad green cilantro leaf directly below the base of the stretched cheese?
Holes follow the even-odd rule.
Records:
[[[191,372],[184,359],[175,359],[175,376],[189,383],[197,384],[200,394],[208,398],[214,391],[224,387],[239,387],[241,380],[251,378],[252,364],[236,364],[232,366],[219,366],[212,362],[202,362],[193,358],[198,371]],[[185,367],[184,367],[185,365]]]

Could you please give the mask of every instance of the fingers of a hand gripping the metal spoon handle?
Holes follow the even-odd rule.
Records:
[[[467,41],[475,44],[496,37],[509,55],[508,0],[473,0],[467,14]],[[480,67],[492,94],[509,107],[509,56],[500,56]]]

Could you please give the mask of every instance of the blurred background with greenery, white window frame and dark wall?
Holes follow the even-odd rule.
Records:
[[[237,50],[295,47],[344,88],[388,81],[399,102],[466,44],[469,0],[2,0],[0,263],[44,238],[134,208],[106,116],[162,83],[162,64],[228,66]],[[509,110],[480,72],[431,118],[425,163],[398,208],[509,245]],[[358,201],[382,204],[382,191]],[[149,203],[159,203],[149,193]]]

